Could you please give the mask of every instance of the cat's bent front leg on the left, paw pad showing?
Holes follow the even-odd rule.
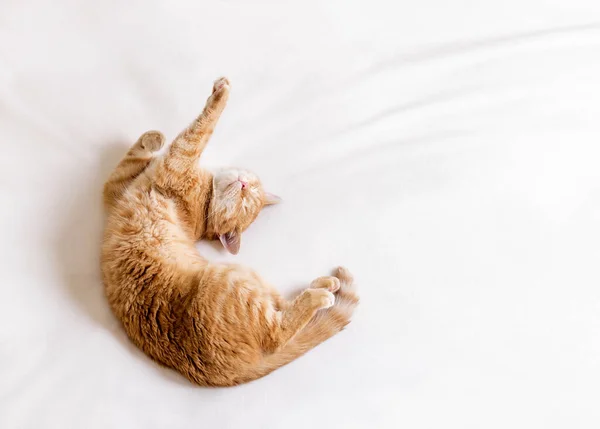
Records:
[[[104,203],[110,207],[131,182],[146,169],[154,154],[165,143],[160,131],[147,131],[129,149],[104,184]]]

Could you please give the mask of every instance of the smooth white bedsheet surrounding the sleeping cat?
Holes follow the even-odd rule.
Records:
[[[130,345],[102,183],[232,81],[207,165],[285,203],[237,257],[291,293],[338,264],[349,328],[203,389]],[[3,1],[0,427],[597,428],[600,3]]]

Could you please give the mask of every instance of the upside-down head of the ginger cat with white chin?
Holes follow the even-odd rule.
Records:
[[[263,207],[281,199],[265,192],[260,179],[247,170],[227,168],[213,176],[208,207],[207,237],[219,239],[229,253],[240,250],[241,234]]]

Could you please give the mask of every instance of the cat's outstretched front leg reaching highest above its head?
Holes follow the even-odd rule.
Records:
[[[169,148],[165,156],[165,166],[168,169],[181,172],[196,165],[225,109],[229,88],[227,78],[215,81],[213,92],[206,100],[200,116],[177,136]]]

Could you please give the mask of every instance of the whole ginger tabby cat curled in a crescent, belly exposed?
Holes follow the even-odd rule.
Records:
[[[285,365],[350,322],[358,297],[350,273],[319,277],[292,302],[252,270],[211,263],[194,242],[240,234],[266,205],[245,170],[215,175],[197,161],[229,97],[218,79],[200,116],[163,157],[158,131],[144,133],[104,187],[106,295],[127,335],[152,359],[205,386],[232,386]]]

